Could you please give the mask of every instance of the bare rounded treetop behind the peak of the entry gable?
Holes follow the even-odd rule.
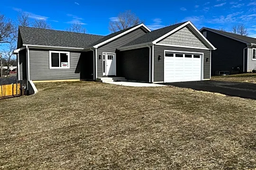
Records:
[[[144,23],[144,21],[140,20],[131,10],[126,10],[110,21],[109,30],[115,33],[141,23]]]

